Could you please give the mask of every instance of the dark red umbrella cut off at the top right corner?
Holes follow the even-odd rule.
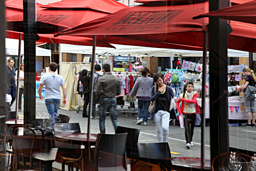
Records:
[[[218,17],[218,18],[223,18],[227,20],[234,20],[234,21],[256,24],[255,7],[256,7],[256,0],[248,3],[243,3],[240,5],[212,11],[206,14],[200,14],[200,15],[197,15],[196,17],[193,17],[193,19],[198,19],[202,17]],[[253,28],[255,27],[256,25]]]

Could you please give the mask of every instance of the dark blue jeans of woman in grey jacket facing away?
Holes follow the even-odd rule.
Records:
[[[148,107],[150,105],[150,101],[144,101],[138,99],[138,118],[143,118],[143,122],[148,122]]]

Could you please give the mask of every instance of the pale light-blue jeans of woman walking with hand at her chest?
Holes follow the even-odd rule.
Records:
[[[168,142],[170,114],[164,110],[159,110],[154,115],[154,122],[157,131],[158,143]]]

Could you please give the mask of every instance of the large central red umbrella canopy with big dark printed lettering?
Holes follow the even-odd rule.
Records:
[[[205,20],[190,16],[206,11],[208,3],[184,6],[134,6],[117,11],[92,22],[67,29],[59,34],[123,35],[161,34],[201,31]]]

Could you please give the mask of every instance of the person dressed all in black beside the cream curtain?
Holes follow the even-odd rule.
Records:
[[[80,73],[80,81],[83,84],[83,93],[84,96],[84,111],[83,111],[83,118],[88,118],[87,115],[87,106],[89,104],[89,97],[90,97],[90,76],[88,76],[88,70],[82,70]]]

